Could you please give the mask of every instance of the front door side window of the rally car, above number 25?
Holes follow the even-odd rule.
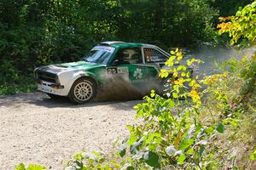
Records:
[[[143,63],[141,48],[122,48],[117,53],[120,64],[140,64]]]

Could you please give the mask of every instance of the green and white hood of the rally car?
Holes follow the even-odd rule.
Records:
[[[38,68],[38,71],[47,71],[54,74],[60,73],[62,71],[76,71],[76,70],[84,70],[92,67],[100,66],[96,63],[89,63],[85,61],[72,62],[72,63],[62,63],[56,65],[47,65]]]

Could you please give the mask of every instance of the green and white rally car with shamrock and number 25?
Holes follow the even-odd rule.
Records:
[[[102,42],[82,61],[41,66],[34,76],[38,90],[51,98],[67,96],[83,104],[104,91],[131,88],[143,94],[159,88],[158,75],[168,58],[164,50],[150,44]]]

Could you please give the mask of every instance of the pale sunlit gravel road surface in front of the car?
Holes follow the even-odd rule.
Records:
[[[0,169],[20,162],[62,169],[79,151],[113,150],[128,134],[125,125],[134,123],[138,102],[73,105],[41,93],[0,96]]]

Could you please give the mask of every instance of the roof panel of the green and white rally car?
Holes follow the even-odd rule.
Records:
[[[100,45],[110,46],[113,48],[129,48],[129,47],[151,47],[157,48],[157,46],[147,43],[139,43],[139,42],[119,42],[119,41],[109,41],[109,42],[101,42]]]

